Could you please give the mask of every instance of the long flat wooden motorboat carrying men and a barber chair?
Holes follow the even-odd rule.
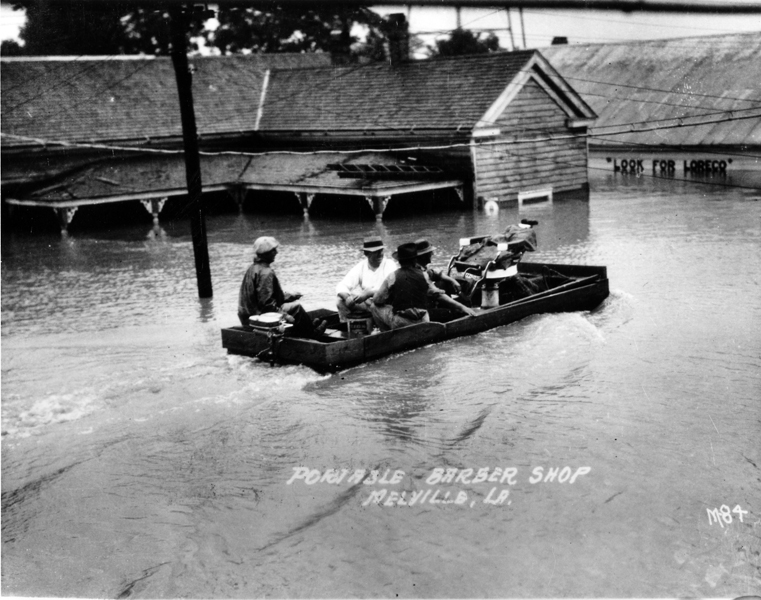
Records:
[[[310,316],[325,319],[328,329],[317,340],[237,326],[222,330],[222,346],[231,354],[258,356],[273,363],[304,364],[321,372],[331,372],[395,352],[474,335],[530,315],[592,310],[609,294],[605,267],[524,262],[517,267],[521,275],[539,277],[549,269],[561,275],[564,283],[494,308],[474,308],[475,317],[439,316],[432,311],[430,323],[354,338],[340,329],[338,313],[319,309],[311,311]]]

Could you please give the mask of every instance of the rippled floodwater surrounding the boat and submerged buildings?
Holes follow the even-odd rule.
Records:
[[[5,234],[4,594],[761,594],[760,200],[600,176],[520,213],[223,215],[210,301],[187,223]],[[221,348],[258,235],[317,308],[367,235],[444,265],[522,217],[527,258],[607,265],[599,309],[331,376]]]

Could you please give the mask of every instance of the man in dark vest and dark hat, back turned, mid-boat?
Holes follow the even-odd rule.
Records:
[[[386,277],[373,296],[373,305],[370,308],[373,320],[381,331],[430,321],[430,299],[436,299],[463,314],[475,315],[467,306],[450,298],[433,285],[426,274],[416,266],[417,247],[414,242],[399,246],[397,260],[401,267]]]

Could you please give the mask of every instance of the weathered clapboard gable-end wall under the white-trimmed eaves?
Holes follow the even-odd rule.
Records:
[[[495,123],[501,135],[475,149],[476,193],[515,200],[523,191],[584,189],[585,130],[571,131],[566,119],[560,106],[530,80]]]

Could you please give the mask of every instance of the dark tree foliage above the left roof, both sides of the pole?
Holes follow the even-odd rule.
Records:
[[[4,44],[3,54],[108,56],[170,50],[169,15],[149,4],[17,0],[13,8],[26,10],[26,25],[19,34],[24,44]],[[338,50],[347,59],[352,47],[354,54],[377,57],[382,46],[378,32],[382,19],[362,7],[225,4],[217,11],[217,20],[219,26],[211,28],[202,14],[194,14],[190,39],[202,39],[222,54]],[[355,23],[368,27],[365,43],[351,35]],[[198,44],[191,41],[190,49],[198,50]]]

